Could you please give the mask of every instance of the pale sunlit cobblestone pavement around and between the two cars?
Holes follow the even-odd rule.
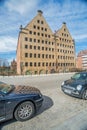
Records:
[[[12,119],[1,123],[0,130],[87,130],[87,101],[61,91],[61,83],[71,75],[1,77],[0,81],[6,83],[39,88],[44,102],[32,119],[26,122]]]

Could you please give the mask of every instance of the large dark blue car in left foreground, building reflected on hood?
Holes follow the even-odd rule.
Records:
[[[0,122],[30,119],[41,107],[43,96],[37,88],[0,82]]]

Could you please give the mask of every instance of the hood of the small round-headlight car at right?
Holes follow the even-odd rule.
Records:
[[[70,86],[76,86],[76,85],[83,85],[85,84],[84,80],[74,80],[74,79],[69,79],[65,81],[65,85],[70,85]]]

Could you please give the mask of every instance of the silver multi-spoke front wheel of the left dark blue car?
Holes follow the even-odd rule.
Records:
[[[34,104],[30,101],[21,103],[15,110],[14,116],[16,120],[26,121],[30,119],[35,112]]]

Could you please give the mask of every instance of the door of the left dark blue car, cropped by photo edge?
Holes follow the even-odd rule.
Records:
[[[0,121],[5,119],[5,100],[0,94]]]

